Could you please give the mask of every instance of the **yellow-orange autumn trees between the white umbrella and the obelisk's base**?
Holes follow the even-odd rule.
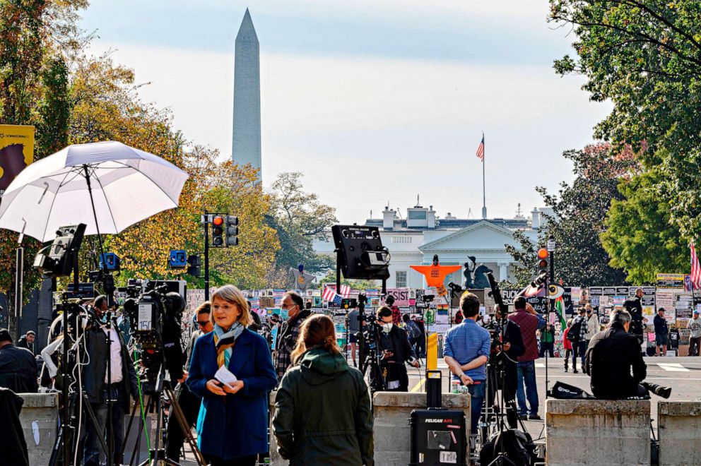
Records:
[[[278,248],[276,232],[263,224],[269,196],[250,166],[219,162],[219,154],[187,143],[172,126],[170,113],[139,100],[134,74],[110,56],[83,57],[74,73],[70,137],[72,143],[121,141],[162,157],[189,174],[179,206],[107,237],[106,247],[122,258],[122,275],[148,279],[199,279],[167,266],[172,249],[204,250],[201,215],[227,212],[240,217],[240,245],[211,251],[211,285],[225,282],[261,287]],[[94,249],[94,239],[92,241]],[[94,254],[93,254],[94,256]]]

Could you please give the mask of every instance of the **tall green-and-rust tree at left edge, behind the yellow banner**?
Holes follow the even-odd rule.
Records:
[[[35,126],[35,160],[66,143],[71,111],[66,57],[78,46],[77,11],[85,6],[85,0],[0,1],[0,123]],[[10,302],[17,237],[0,232],[0,292]],[[23,282],[32,289],[40,280],[32,267],[40,244],[25,237],[22,246]],[[13,318],[10,323],[14,327]]]

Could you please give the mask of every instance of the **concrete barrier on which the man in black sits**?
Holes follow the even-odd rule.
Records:
[[[546,463],[649,465],[649,400],[546,400]]]

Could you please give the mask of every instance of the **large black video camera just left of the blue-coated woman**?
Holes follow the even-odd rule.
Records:
[[[139,376],[144,391],[153,391],[163,364],[171,381],[182,378],[182,296],[169,292],[166,283],[146,280],[129,280],[129,285],[119,291],[128,296],[124,316],[129,319],[131,337],[141,347]]]

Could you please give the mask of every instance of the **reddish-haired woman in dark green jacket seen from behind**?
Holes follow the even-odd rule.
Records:
[[[292,359],[275,398],[278,453],[290,466],[373,465],[367,384],[341,355],[331,318],[307,318]]]

